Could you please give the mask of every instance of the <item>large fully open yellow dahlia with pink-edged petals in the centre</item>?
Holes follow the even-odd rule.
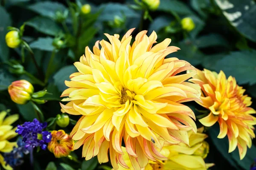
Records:
[[[156,43],[157,34],[148,37],[141,31],[132,45],[129,30],[121,40],[119,35],[105,34],[110,43],[101,40],[93,52],[85,48],[85,56],[74,65],[79,72],[71,74],[69,87],[62,96],[63,112],[82,115],[70,135],[83,145],[86,160],[98,155],[99,162],[118,168],[117,162],[128,168],[122,159],[122,142],[134,169],[148,164],[148,159],[167,159],[157,148],[157,136],[166,142],[189,143],[187,131],[196,125],[192,110],[182,102],[200,101],[200,87],[185,80],[196,74],[188,62],[177,58],[164,59],[179,48],[168,46],[166,39]],[[99,44],[102,48],[99,47]],[[191,70],[189,73],[180,74]]]

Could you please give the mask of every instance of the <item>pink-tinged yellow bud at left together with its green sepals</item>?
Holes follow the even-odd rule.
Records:
[[[24,105],[29,100],[32,100],[38,104],[44,104],[47,102],[44,99],[40,99],[47,94],[47,91],[43,90],[34,93],[33,85],[26,80],[17,80],[12,82],[12,84],[8,87],[8,92],[12,101],[19,105]]]

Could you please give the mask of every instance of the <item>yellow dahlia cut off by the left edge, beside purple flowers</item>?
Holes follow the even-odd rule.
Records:
[[[12,123],[19,119],[18,114],[14,114],[5,118],[7,112],[0,112],[0,152],[9,153],[13,150],[14,146],[17,146],[17,142],[9,142],[9,139],[17,136],[15,132],[16,128],[13,128]],[[4,119],[5,118],[5,119]],[[3,156],[0,154],[0,164],[6,170],[12,170],[12,167],[6,165]]]

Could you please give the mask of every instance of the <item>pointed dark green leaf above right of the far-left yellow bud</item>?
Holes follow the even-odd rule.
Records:
[[[37,31],[55,36],[61,32],[61,28],[53,20],[45,17],[34,17],[32,20],[26,22],[26,25],[32,26]]]

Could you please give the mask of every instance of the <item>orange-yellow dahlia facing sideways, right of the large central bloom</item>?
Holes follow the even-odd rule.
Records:
[[[234,77],[227,79],[223,71],[217,74],[207,69],[198,70],[198,74],[189,81],[201,86],[202,102],[198,104],[210,110],[209,115],[199,121],[207,127],[218,122],[218,138],[227,135],[229,153],[238,146],[240,159],[243,159],[247,146],[250,148],[252,138],[255,138],[253,125],[256,125],[256,118],[251,115],[256,111],[248,107],[252,102],[250,97],[244,95],[245,89],[236,84]]]

